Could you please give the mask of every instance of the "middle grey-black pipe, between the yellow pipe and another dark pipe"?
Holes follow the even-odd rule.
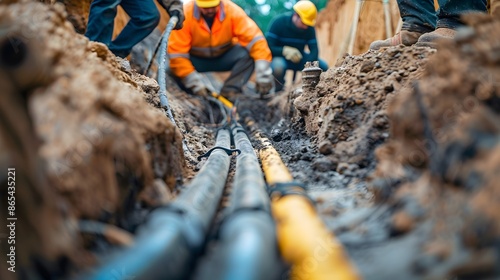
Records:
[[[259,161],[243,128],[233,127],[237,157],[231,205],[219,230],[218,245],[198,279],[277,279],[279,257],[274,220]]]

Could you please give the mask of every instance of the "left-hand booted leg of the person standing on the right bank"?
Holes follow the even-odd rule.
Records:
[[[437,15],[433,0],[398,0],[399,12],[403,20],[401,32],[391,38],[378,40],[370,45],[370,49],[405,45],[411,46],[422,34],[436,28]]]

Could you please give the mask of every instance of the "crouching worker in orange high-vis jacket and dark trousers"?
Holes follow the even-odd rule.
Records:
[[[256,91],[272,90],[271,51],[243,9],[228,0],[194,0],[184,4],[184,13],[183,28],[172,31],[168,41],[170,70],[181,85],[205,96],[209,87],[200,72],[231,71],[220,93],[232,98],[255,69]]]

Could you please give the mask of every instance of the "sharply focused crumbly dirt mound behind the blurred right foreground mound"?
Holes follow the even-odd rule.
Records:
[[[336,165],[367,167],[389,136],[387,102],[422,75],[428,48],[392,48],[345,56],[294,101],[320,153]]]

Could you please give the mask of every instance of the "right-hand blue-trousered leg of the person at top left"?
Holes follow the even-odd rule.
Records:
[[[130,20],[111,42],[109,49],[120,57],[130,54],[132,48],[146,38],[160,22],[160,13],[153,0],[122,0],[122,8]]]

